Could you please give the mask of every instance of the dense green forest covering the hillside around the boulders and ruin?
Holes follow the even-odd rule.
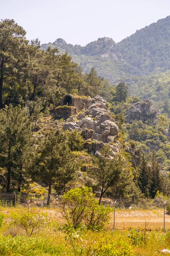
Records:
[[[113,55],[117,54],[114,47]],[[96,46],[88,45],[85,50],[91,54],[94,49],[95,54],[104,54]],[[139,81],[142,83],[142,78]],[[133,83],[128,81],[132,90],[130,86]],[[157,86],[167,90],[161,81]],[[99,192],[99,203],[104,195],[154,198],[158,191],[169,195],[169,102],[153,122],[128,122],[127,111],[133,104],[146,104],[136,96],[128,96],[128,87],[124,82],[112,87],[94,67],[83,73],[67,53],[59,53],[55,47],[44,51],[38,39],[26,40],[26,31],[14,20],[1,20],[1,191],[43,191],[51,195],[52,189],[63,194],[85,185]],[[109,118],[115,122],[117,133],[115,141],[105,143],[98,155],[85,148],[81,132],[65,131],[65,120],[54,119],[53,113],[66,93],[87,99],[99,95],[108,102],[105,112],[110,108]],[[119,150],[113,156],[116,145]]]

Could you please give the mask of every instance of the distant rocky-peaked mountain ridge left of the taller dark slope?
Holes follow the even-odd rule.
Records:
[[[82,66],[85,73],[94,67],[99,76],[115,81],[122,76],[141,75],[141,72],[128,64],[117,50],[116,43],[111,38],[99,38],[97,41],[80,45],[67,44],[62,38],[54,43],[42,44],[41,49],[48,47],[59,49],[59,53],[68,52],[72,60]]]

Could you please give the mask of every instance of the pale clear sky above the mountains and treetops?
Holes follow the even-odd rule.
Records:
[[[117,43],[168,15],[170,0],[0,0],[0,19],[14,19],[41,44],[85,46],[104,36]]]

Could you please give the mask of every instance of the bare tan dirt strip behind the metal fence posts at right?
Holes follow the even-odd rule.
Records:
[[[113,227],[113,215],[109,223]],[[164,210],[124,209],[115,210],[115,228],[124,230],[133,227],[147,230],[162,230],[164,227]],[[170,228],[170,215],[165,214],[165,229]]]

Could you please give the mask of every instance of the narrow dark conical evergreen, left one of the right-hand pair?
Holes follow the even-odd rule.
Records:
[[[138,184],[142,194],[144,194],[147,197],[149,195],[150,169],[147,166],[147,161],[144,157],[144,152],[140,157]]]

